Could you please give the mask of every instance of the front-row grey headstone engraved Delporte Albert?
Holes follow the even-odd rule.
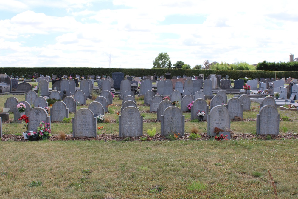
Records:
[[[215,136],[214,128],[217,127],[222,130],[230,128],[231,117],[228,109],[221,105],[215,106],[207,115],[207,135]]]

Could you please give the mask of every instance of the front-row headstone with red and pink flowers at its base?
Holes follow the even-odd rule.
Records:
[[[39,126],[41,121],[45,121],[46,123],[50,123],[51,128],[51,120],[45,109],[41,107],[34,107],[28,113],[28,131],[37,131],[37,127]]]

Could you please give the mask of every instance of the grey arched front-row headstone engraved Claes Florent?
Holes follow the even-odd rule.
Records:
[[[81,108],[72,118],[72,137],[96,137],[96,117],[87,108]]]

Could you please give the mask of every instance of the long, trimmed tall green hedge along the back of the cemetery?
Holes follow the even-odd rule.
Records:
[[[131,69],[131,68],[70,68],[70,67],[63,67],[63,68],[8,68],[3,67],[0,68],[0,73],[6,73],[7,75],[14,75],[14,76],[22,76],[27,77],[28,75],[33,75],[33,73],[39,73],[43,75],[70,75],[70,74],[78,74],[78,75],[112,75],[113,72],[123,72],[124,75],[135,75],[135,76],[148,76],[156,75],[161,76],[165,75],[165,73],[170,72],[172,76],[199,76],[199,74],[204,74],[204,77],[207,77],[210,74],[217,74],[222,75],[222,77],[226,77],[229,75],[231,79],[239,79],[241,77],[248,77],[248,78],[275,78],[274,71],[262,71],[262,70],[195,70],[195,69]],[[295,77],[298,78],[298,72],[285,72],[285,71],[277,71],[276,77]]]

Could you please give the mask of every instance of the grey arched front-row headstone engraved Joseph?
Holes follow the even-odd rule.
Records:
[[[143,116],[136,107],[126,107],[119,116],[119,137],[143,135]]]

